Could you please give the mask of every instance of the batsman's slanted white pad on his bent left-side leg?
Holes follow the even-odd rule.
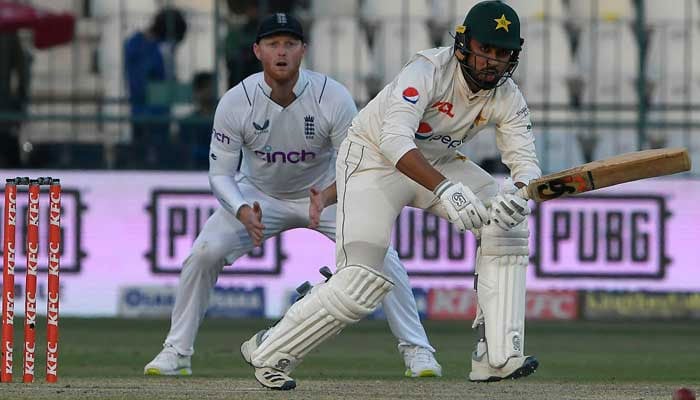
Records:
[[[364,265],[340,269],[289,308],[252,353],[252,364],[291,371],[323,341],[372,313],[393,286]]]

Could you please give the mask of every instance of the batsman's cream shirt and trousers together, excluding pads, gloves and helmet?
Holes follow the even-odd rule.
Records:
[[[451,48],[417,53],[359,112],[339,150],[337,266],[381,265],[405,206],[447,218],[432,192],[396,169],[411,149],[482,201],[497,194],[494,178],[457,152],[489,123],[513,180],[539,177],[529,110],[515,83],[474,94]]]

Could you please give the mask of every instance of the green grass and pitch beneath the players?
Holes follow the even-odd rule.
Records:
[[[21,320],[17,319],[17,328]],[[144,377],[159,351],[165,320],[61,320],[59,383],[44,380],[45,335],[37,333],[37,383],[0,387],[0,398],[498,398],[670,399],[674,388],[700,389],[698,322],[532,322],[526,349],[540,369],[520,381],[465,379],[473,333],[467,321],[426,321],[444,369],[442,379],[403,377],[403,363],[384,321],[363,321],[312,353],[292,393],[262,389],[238,346],[269,321],[206,320],[193,377]],[[15,332],[15,382],[21,380],[21,329]]]

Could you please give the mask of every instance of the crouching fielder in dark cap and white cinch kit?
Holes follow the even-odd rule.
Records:
[[[308,226],[335,240],[335,206],[324,207],[335,203],[335,159],[355,103],[338,82],[299,68],[306,45],[292,16],[263,20],[253,50],[263,72],[229,90],[214,116],[209,181],[222,207],[184,262],[170,332],[146,375],[192,374],[195,336],[225,265],[288,229]],[[395,250],[385,251],[383,264],[396,282],[383,304],[406,375],[440,376]]]

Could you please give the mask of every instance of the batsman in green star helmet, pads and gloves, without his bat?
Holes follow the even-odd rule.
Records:
[[[480,238],[476,272],[480,333],[472,381],[527,376],[524,355],[527,216],[515,196],[541,175],[525,100],[510,77],[524,40],[518,15],[484,1],[457,27],[454,47],[421,51],[355,117],[338,152],[336,274],[283,319],[241,345],[256,379],[291,389],[289,372],[316,346],[371,313],[396,285],[383,267],[403,207],[447,218]],[[456,148],[488,123],[512,181],[493,177]],[[486,202],[488,200],[488,202]],[[485,205],[490,204],[487,208]]]

